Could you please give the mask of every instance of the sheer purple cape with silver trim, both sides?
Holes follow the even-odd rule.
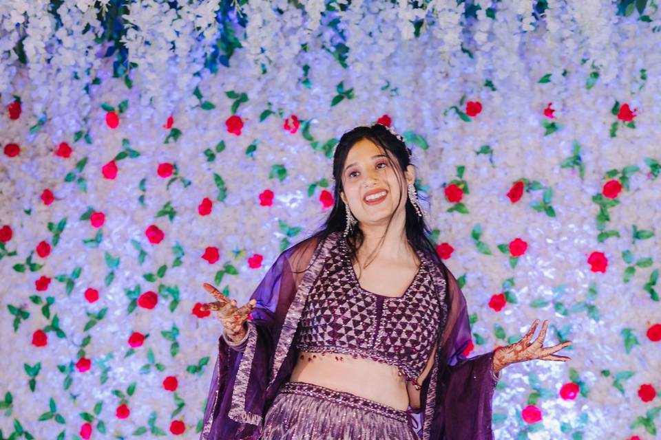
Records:
[[[251,296],[257,305],[247,321],[247,340],[229,347],[218,338],[200,440],[259,439],[264,416],[297,361],[292,341],[306,296],[338,234],[323,241],[313,236],[282,252]],[[442,263],[432,267],[432,276],[445,310],[439,349],[421,384],[417,434],[422,440],[492,440],[499,380],[494,351],[465,358],[471,341],[465,296]]]

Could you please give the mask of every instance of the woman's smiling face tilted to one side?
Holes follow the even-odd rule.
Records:
[[[384,154],[388,154],[392,164]],[[406,189],[408,184],[415,181],[415,170],[409,165],[406,168],[406,176],[401,176],[395,166],[397,159],[390,156],[388,150],[381,152],[370,140],[359,140],[349,150],[342,166],[344,191],[340,192],[340,197],[348,204],[351,214],[361,225],[385,225],[395,211],[398,201],[399,208],[395,216],[406,216]],[[399,186],[402,188],[401,192]],[[386,191],[386,196],[380,199],[379,203],[365,199],[366,196],[382,190]]]

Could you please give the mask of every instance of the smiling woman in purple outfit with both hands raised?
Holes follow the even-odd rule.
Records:
[[[499,371],[570,359],[552,355],[570,341],[542,347],[546,321],[529,342],[537,320],[465,358],[465,297],[427,238],[410,159],[384,125],[345,133],[324,228],[282,252],[242,307],[205,283],[224,332],[200,439],[492,439]]]

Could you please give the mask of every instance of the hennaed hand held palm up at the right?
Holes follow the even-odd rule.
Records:
[[[496,349],[496,352],[494,353],[494,372],[496,374],[507,365],[516,364],[517,362],[525,362],[527,360],[539,359],[557,360],[563,362],[571,360],[571,358],[568,356],[558,356],[552,354],[571,345],[571,341],[565,341],[554,345],[553,347],[542,347],[549,320],[544,321],[542,329],[539,332],[539,336],[537,336],[533,342],[530,342],[530,339],[535,333],[538,322],[538,319],[533,322],[532,327],[530,327],[528,332],[520,341]]]

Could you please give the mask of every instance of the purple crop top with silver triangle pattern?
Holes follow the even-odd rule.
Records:
[[[397,366],[406,380],[416,379],[425,369],[441,320],[428,270],[432,261],[417,252],[420,268],[402,296],[374,294],[360,287],[346,239],[336,235],[306,299],[296,348],[371,358]]]

